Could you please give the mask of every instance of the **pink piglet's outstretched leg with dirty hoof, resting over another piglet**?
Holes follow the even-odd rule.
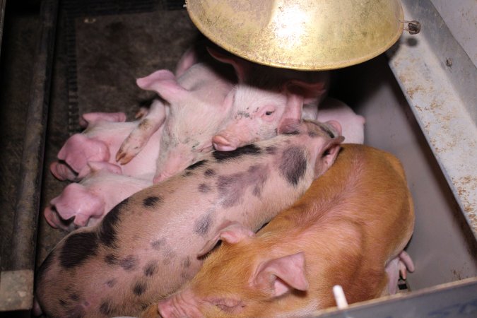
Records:
[[[146,146],[151,136],[158,131],[165,120],[165,106],[160,100],[154,100],[151,110],[131,131],[116,153],[116,161],[121,165],[129,163]]]

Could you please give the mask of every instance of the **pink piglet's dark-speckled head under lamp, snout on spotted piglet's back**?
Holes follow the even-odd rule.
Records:
[[[231,151],[276,136],[276,128],[289,119],[316,119],[317,107],[329,87],[329,72],[276,69],[253,64],[214,49],[211,55],[232,65],[237,86],[228,96],[230,117],[213,136],[213,146]]]

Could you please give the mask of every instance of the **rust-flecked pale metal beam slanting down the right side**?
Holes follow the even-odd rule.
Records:
[[[420,20],[389,51],[392,71],[477,237],[477,69],[430,1],[403,1]]]

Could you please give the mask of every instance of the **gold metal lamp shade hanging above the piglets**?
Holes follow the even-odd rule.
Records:
[[[404,28],[399,0],[187,0],[194,24],[259,64],[328,70],[384,52]]]

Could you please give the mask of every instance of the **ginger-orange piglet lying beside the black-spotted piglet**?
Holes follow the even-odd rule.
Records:
[[[335,305],[334,285],[350,303],[394,293],[399,260],[413,270],[403,251],[413,224],[399,160],[343,145],[331,169],[257,235],[223,223],[200,254],[223,244],[189,284],[159,302],[160,316],[305,317]]]

